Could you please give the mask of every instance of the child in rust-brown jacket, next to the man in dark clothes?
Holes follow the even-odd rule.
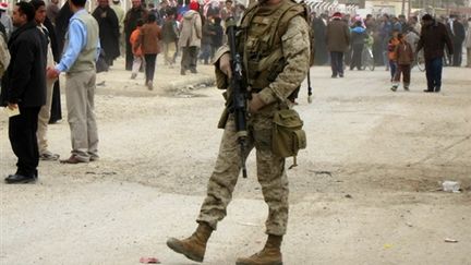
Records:
[[[396,75],[391,87],[391,91],[394,92],[396,92],[399,86],[401,73],[403,75],[403,88],[404,91],[409,91],[411,63],[414,59],[412,46],[406,41],[406,37],[402,34],[398,34],[398,39],[399,44],[395,48],[394,58],[397,64]]]

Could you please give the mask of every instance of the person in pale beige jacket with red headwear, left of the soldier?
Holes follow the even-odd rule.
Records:
[[[202,19],[198,13],[200,4],[190,3],[190,10],[183,14],[183,21],[180,26],[179,47],[182,49],[180,74],[185,75],[190,70],[197,73],[197,53],[202,39]]]

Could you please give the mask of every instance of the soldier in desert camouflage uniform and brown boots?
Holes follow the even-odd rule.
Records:
[[[303,5],[291,0],[259,0],[244,13],[238,35],[238,52],[247,65],[243,75],[252,93],[249,101],[247,156],[256,149],[257,179],[262,185],[269,214],[266,220],[268,239],[265,248],[250,256],[238,258],[238,265],[282,264],[281,240],[288,222],[288,179],[285,158],[271,149],[273,119],[279,109],[288,109],[289,95],[300,86],[310,67],[307,13]],[[217,80],[231,75],[228,47],[215,56]],[[246,74],[250,73],[250,74]],[[224,86],[218,84],[219,88]],[[222,86],[222,87],[221,87]],[[198,227],[189,238],[171,238],[167,245],[190,260],[202,262],[206,243],[226,208],[241,170],[234,117],[229,115],[216,167],[207,185],[207,196],[196,219]]]

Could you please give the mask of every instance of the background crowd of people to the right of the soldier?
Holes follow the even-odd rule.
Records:
[[[312,15],[315,39],[315,64],[330,62],[331,77],[343,77],[346,64],[362,70],[362,52],[369,48],[374,63],[390,71],[391,91],[396,92],[403,75],[403,88],[409,91],[411,67],[423,52],[428,86],[425,92],[439,92],[443,64],[461,67],[467,48],[467,67],[471,67],[471,19],[463,23],[458,15],[433,17],[430,14],[374,17],[351,16],[339,12]],[[468,31],[468,33],[467,33]],[[423,51],[421,51],[423,49]]]

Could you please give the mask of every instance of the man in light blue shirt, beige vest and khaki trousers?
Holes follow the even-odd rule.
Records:
[[[71,129],[72,155],[63,164],[95,161],[98,129],[95,116],[96,60],[99,55],[97,21],[85,10],[86,0],[69,0],[73,15],[69,23],[64,53],[49,79],[65,72],[65,99]]]

